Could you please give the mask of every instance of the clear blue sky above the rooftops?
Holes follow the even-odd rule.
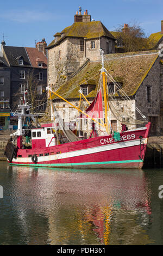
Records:
[[[132,22],[147,36],[161,30],[162,0],[8,0],[0,4],[0,40],[4,35],[7,46],[35,47],[35,40],[45,38],[49,44],[55,33],[73,24],[79,6],[109,31]]]

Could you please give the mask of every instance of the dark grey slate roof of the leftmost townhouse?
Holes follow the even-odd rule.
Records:
[[[24,67],[31,67],[25,47],[3,46],[10,66],[19,66],[17,58],[22,56]]]

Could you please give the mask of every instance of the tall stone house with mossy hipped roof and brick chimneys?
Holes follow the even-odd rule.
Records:
[[[101,21],[91,21],[91,15],[74,15],[73,25],[54,34],[54,40],[48,50],[48,84],[61,83],[78,71],[89,60],[99,60],[99,49],[105,54],[115,52],[115,38]]]

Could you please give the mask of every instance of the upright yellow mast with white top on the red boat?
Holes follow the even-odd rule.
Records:
[[[104,91],[104,106],[105,106],[105,129],[106,132],[109,133],[109,126],[108,126],[108,102],[107,102],[107,94],[106,94],[106,74],[104,68],[104,51],[102,49],[99,50],[101,52],[102,58],[102,77],[103,77],[103,91]]]

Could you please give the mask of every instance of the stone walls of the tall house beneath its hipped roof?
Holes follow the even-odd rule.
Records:
[[[81,40],[83,39],[69,37],[48,50],[48,84],[53,84],[53,89],[58,89],[66,82],[87,59],[100,60],[99,48],[106,51],[106,42],[109,42],[112,53],[115,52],[114,41],[111,39],[103,37],[84,40],[84,51],[80,51]],[[95,41],[95,48],[91,48],[91,41]]]

